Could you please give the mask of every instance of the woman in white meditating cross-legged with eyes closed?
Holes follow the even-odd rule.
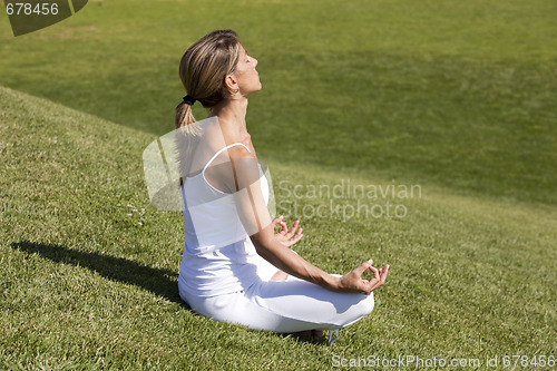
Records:
[[[306,262],[290,246],[303,234],[271,219],[268,187],[247,133],[247,98],[261,90],[257,60],[232,30],[211,32],[179,66],[187,91],[176,107],[186,241],[180,297],[199,314],[254,330],[320,338],[373,310],[372,292],[389,266],[362,263],[341,276]],[[209,116],[195,121],[199,101]],[[275,228],[280,232],[275,233]],[[373,277],[361,275],[371,271]]]

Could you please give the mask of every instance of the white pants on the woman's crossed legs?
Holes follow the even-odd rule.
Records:
[[[180,296],[195,312],[216,321],[281,333],[341,329],[374,306],[373,293],[336,293],[293,276],[260,281],[246,292],[196,297],[180,291]]]

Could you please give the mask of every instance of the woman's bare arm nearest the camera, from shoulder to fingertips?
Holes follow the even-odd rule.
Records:
[[[320,270],[290,250],[287,243],[284,243],[284,236],[274,233],[276,223],[271,221],[261,192],[257,158],[251,156],[243,147],[235,147],[229,152],[229,156],[236,208],[257,254],[285,273],[332,291],[370,294],[383,285],[389,272],[388,265],[378,270],[371,265],[371,261],[368,261],[344,276],[338,277]],[[299,234],[293,234],[287,240],[300,240],[300,237]],[[367,270],[373,274],[370,280],[361,277]]]

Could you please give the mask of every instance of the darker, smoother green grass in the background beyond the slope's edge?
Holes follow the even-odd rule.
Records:
[[[0,85],[163,135],[184,92],[182,53],[234,28],[260,60],[248,125],[265,157],[556,204],[556,10],[550,0],[92,1],[25,37],[0,22]]]

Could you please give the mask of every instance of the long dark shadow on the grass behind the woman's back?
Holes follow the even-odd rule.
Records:
[[[41,257],[49,258],[56,263],[85,266],[106,279],[146,289],[170,302],[188,307],[178,295],[176,272],[140,265],[121,257],[80,252],[60,245],[46,245],[21,241],[12,243],[11,246],[29,254],[37,253]]]

